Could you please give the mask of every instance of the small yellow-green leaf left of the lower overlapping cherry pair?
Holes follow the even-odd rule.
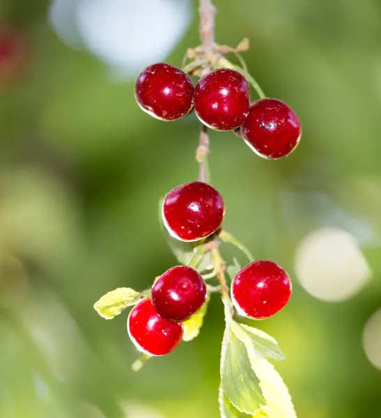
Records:
[[[95,302],[95,311],[104,319],[112,319],[119,315],[123,309],[130,307],[141,298],[141,293],[131,288],[117,288],[114,291],[106,293],[98,302]]]

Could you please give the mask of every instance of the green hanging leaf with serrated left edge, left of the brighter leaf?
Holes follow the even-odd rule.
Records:
[[[222,343],[221,384],[229,401],[240,412],[254,414],[266,405],[247,348],[228,325]]]

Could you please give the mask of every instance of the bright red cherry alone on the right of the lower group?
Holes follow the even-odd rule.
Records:
[[[292,293],[290,277],[279,265],[257,260],[246,265],[233,279],[231,298],[238,314],[265,319],[277,314]]]

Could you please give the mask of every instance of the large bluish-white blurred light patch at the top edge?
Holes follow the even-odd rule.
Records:
[[[125,78],[163,61],[191,14],[189,0],[52,0],[49,20],[63,42],[84,45]]]

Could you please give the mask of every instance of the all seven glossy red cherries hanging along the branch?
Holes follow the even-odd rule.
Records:
[[[284,157],[300,141],[300,122],[290,107],[275,99],[250,104],[247,80],[228,68],[210,72],[194,87],[180,68],[156,63],[139,75],[135,96],[141,109],[164,121],[182,118],[194,108],[202,123],[212,129],[239,128],[244,141],[266,158]],[[185,242],[217,233],[224,216],[221,194],[201,181],[171,189],[162,203],[164,226],[173,238]],[[276,314],[291,292],[286,271],[267,260],[249,263],[231,284],[231,300],[238,314],[257,320]],[[170,353],[182,341],[182,323],[201,309],[207,294],[205,281],[194,268],[177,265],[166,270],[154,282],[150,298],[130,311],[130,339],[146,355]]]

